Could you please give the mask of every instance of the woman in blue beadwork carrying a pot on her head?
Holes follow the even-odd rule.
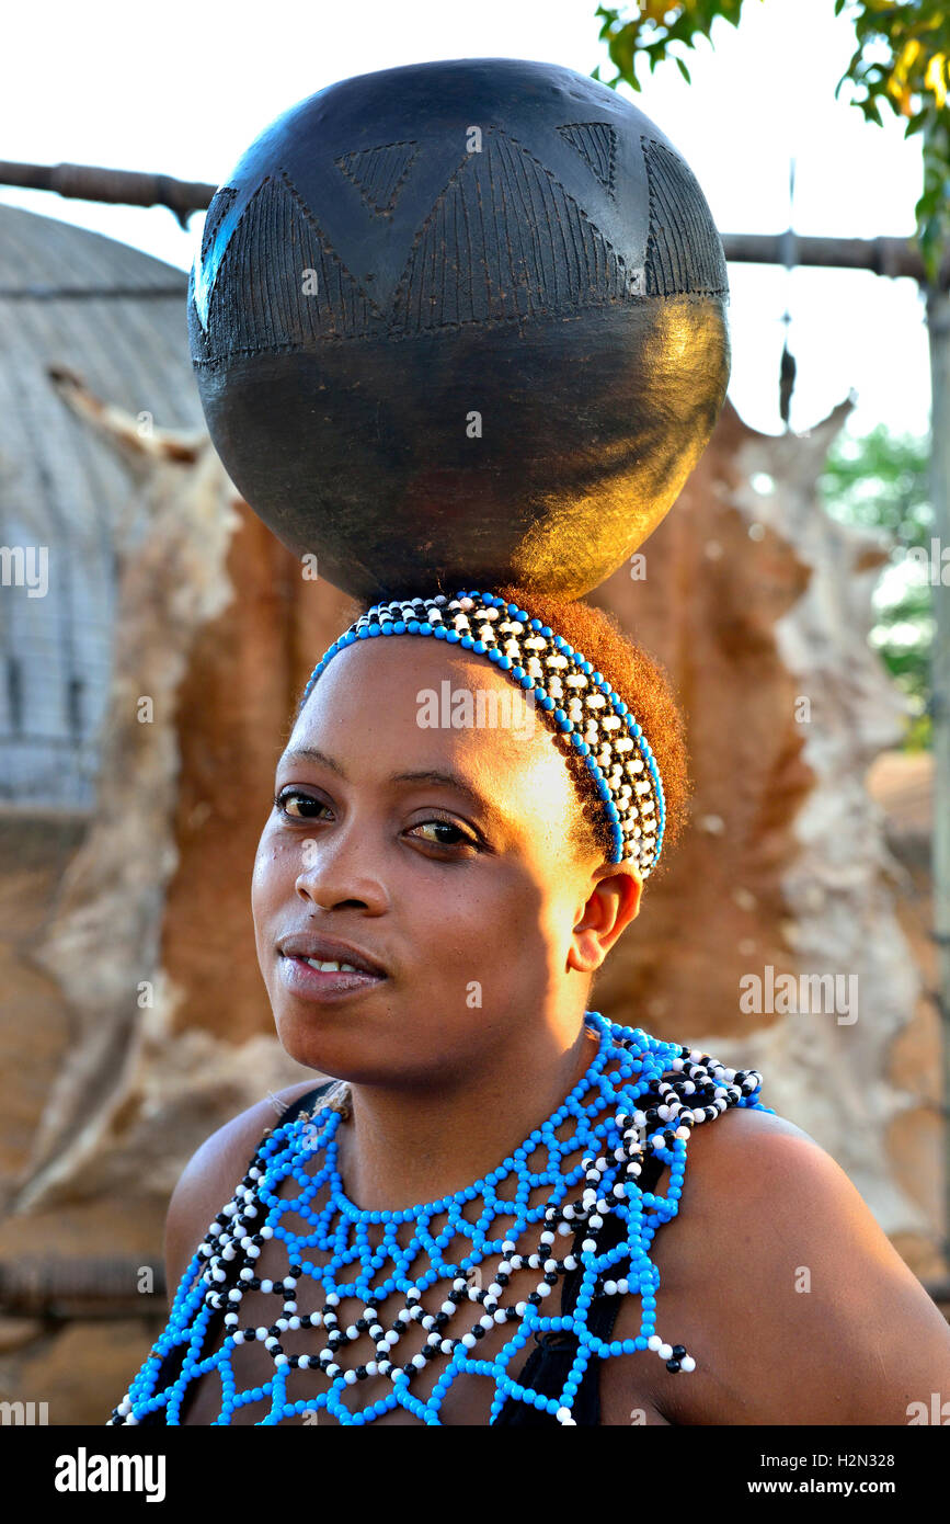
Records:
[[[947,1390],[947,1324],[760,1076],[589,1010],[687,789],[665,675],[603,613],[362,611],[253,878],[280,1041],[340,1084],[196,1152],[110,1422],[886,1425]]]

